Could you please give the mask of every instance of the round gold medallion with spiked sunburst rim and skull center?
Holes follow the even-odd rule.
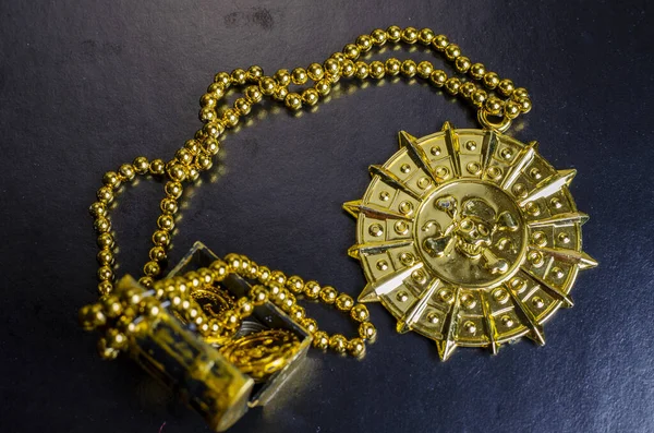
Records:
[[[372,166],[356,244],[368,281],[359,301],[378,301],[398,332],[436,340],[446,360],[457,346],[499,346],[526,336],[545,342],[543,323],[572,306],[581,269],[597,263],[581,249],[568,184],[523,144],[488,130],[400,132],[400,151]]]

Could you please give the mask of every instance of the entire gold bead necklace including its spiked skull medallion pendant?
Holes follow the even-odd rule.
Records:
[[[459,76],[448,76],[429,61],[360,60],[368,51],[400,43],[431,48],[452,63]],[[314,347],[363,356],[365,342],[376,336],[368,311],[332,287],[270,270],[239,254],[183,276],[160,276],[184,185],[211,168],[220,136],[246,118],[254,105],[267,97],[296,111],[318,104],[341,79],[389,76],[424,80],[459,96],[476,110],[483,130],[455,130],[446,122],[441,132],[422,139],[402,132],[401,149],[384,166],[371,167],[373,181],[364,199],[344,205],[358,219],[356,243],[349,253],[362,262],[368,280],[359,301],[382,302],[398,318],[399,332],[415,330],[436,340],[443,359],[458,346],[496,352],[521,336],[543,342],[543,322],[559,306],[572,304],[569,292],[578,270],[596,265],[581,249],[580,227],[588,217],[577,211],[568,190],[574,172],[555,170],[538,155],[535,142],[522,144],[502,134],[530,111],[525,88],[473,63],[458,45],[429,28],[390,26],[359,36],[306,69],[280,69],[271,76],[257,65],[217,73],[199,99],[202,129],[173,158],[142,156],[105,173],[90,206],[100,249],[101,298],[81,311],[85,328],[105,334],[99,344],[102,357],[114,358],[128,348],[131,337],[149,326],[148,317],[166,309],[206,341],[222,341],[225,353],[251,359],[243,353],[277,338],[275,333],[229,345],[253,309],[266,302],[305,328]],[[240,96],[231,108],[220,110],[232,91]],[[138,279],[144,290],[117,291],[109,205],[119,188],[137,176],[164,181],[165,197],[149,260]],[[256,285],[246,296],[225,300],[222,311],[207,312],[197,301],[198,291],[222,296],[216,287],[230,275]],[[356,323],[359,335],[327,334],[298,304],[300,297],[344,312]],[[292,352],[292,339],[280,338],[284,350]],[[264,368],[276,371],[277,358],[266,362]],[[243,364],[243,371],[261,378],[261,372],[253,373],[255,364]]]

